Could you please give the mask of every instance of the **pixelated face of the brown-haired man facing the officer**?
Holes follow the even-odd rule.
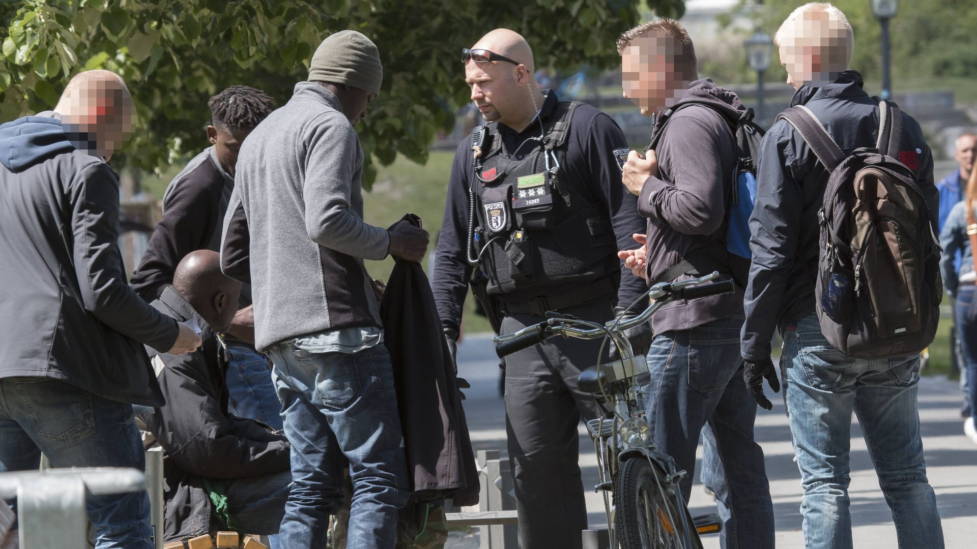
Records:
[[[672,106],[689,87],[675,68],[675,40],[650,33],[635,38],[620,56],[624,97],[645,116]]]

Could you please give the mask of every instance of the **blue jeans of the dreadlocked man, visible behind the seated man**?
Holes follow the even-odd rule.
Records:
[[[258,420],[281,431],[281,402],[272,383],[268,357],[246,343],[228,341],[231,365],[226,376],[231,413],[237,417]]]

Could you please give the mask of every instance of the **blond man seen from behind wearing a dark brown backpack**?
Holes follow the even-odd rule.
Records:
[[[804,495],[805,546],[852,547],[851,416],[861,424],[900,547],[942,548],[917,413],[919,351],[943,293],[933,159],[919,124],[846,69],[854,35],[829,4],[795,10],[775,39],[797,93],[760,151],[743,324],[756,401],[779,327]]]

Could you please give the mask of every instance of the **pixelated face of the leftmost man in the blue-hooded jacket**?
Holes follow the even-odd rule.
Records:
[[[98,82],[72,98],[72,114],[63,118],[64,131],[76,147],[108,160],[132,135],[132,98],[114,82]]]

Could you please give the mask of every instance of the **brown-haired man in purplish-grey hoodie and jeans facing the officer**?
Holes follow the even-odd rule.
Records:
[[[622,174],[648,219],[647,236],[635,235],[646,245],[618,256],[649,283],[713,271],[724,279],[745,278],[749,260],[733,245],[745,221],[740,227],[730,222],[740,204],[751,204],[747,142],[758,148],[759,139],[747,135],[760,135],[749,121],[752,111],[735,93],[698,79],[692,40],[676,21],[646,22],[625,32],[617,51],[625,97],[643,114],[658,113],[647,157],[630,151]],[[733,294],[676,303],[652,317],[652,324],[646,410],[658,447],[686,471],[683,496],[688,501],[701,433],[701,478],[716,494],[723,547],[773,547],[770,487],[763,450],[753,441],[756,407],[740,359],[742,286]]]

